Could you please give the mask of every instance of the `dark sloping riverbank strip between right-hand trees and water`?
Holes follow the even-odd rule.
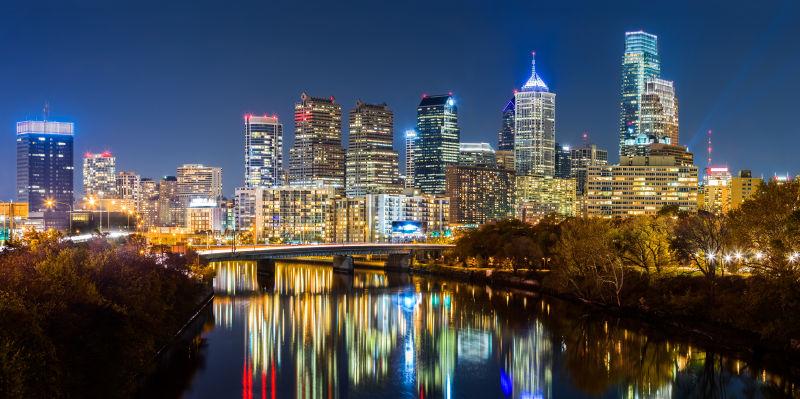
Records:
[[[497,288],[522,289],[566,300],[581,306],[593,315],[600,314],[642,323],[643,327],[653,331],[684,337],[690,342],[707,348],[781,368],[800,379],[800,352],[791,350],[784,344],[761,339],[754,331],[707,319],[687,317],[685,314],[671,313],[660,307],[651,307],[645,310],[641,307],[614,306],[587,301],[569,292],[554,289],[553,285],[547,281],[550,274],[547,271],[514,273],[510,270],[437,264],[415,264],[411,271],[414,274],[485,284]]]

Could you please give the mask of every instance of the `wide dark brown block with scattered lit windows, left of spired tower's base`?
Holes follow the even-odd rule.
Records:
[[[447,167],[450,223],[483,224],[511,217],[514,172],[496,166]]]

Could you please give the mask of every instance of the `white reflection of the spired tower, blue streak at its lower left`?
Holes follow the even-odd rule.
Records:
[[[515,398],[552,398],[553,347],[544,325],[536,320],[526,334],[515,334],[500,372],[503,393]]]

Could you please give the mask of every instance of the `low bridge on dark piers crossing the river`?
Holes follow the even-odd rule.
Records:
[[[332,256],[334,271],[353,271],[353,255],[386,255],[387,270],[408,270],[418,253],[441,254],[452,248],[451,244],[312,244],[312,245],[260,245],[238,248],[208,249],[197,251],[207,260],[254,260],[259,269],[274,270],[275,260],[307,256]]]

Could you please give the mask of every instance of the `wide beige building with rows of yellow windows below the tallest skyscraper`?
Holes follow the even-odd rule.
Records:
[[[586,213],[592,217],[655,215],[666,206],[696,212],[697,168],[675,157],[623,157],[620,165],[591,166]]]

